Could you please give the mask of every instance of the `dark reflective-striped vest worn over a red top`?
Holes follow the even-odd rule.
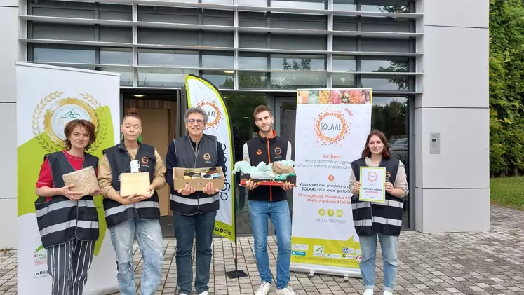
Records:
[[[62,175],[74,172],[74,168],[67,161],[62,151],[49,153],[44,156],[48,159],[53,174],[53,186],[64,186]],[[98,158],[89,153],[83,154],[82,168],[98,167]],[[64,195],[55,195],[46,202],[46,198],[39,197],[34,203],[36,221],[40,231],[44,248],[64,244],[74,238],[78,240],[98,240],[98,213],[95,201],[90,195],[80,200],[69,200]]]

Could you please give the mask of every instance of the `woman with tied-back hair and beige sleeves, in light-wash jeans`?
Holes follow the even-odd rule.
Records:
[[[120,130],[122,142],[105,149],[100,161],[98,183],[105,197],[105,221],[116,252],[120,293],[136,294],[133,268],[133,241],[136,233],[144,259],[140,294],[152,295],[159,287],[162,275],[162,231],[159,223],[159,195],[156,191],[166,184],[163,177],[166,167],[154,146],[141,143],[142,121],[135,108],[129,109]],[[149,179],[146,179],[145,188],[138,187],[139,181],[124,183],[124,176],[135,179],[135,176],[143,175],[133,174],[135,172],[149,173],[146,175]],[[125,195],[124,191],[130,189],[139,191]]]

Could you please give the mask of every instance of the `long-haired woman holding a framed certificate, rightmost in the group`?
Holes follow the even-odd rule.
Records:
[[[375,287],[377,238],[384,260],[384,295],[391,295],[398,268],[403,198],[409,191],[404,164],[391,158],[384,133],[372,131],[368,135],[362,158],[351,163],[350,188],[354,226],[362,249],[363,295],[372,295]]]

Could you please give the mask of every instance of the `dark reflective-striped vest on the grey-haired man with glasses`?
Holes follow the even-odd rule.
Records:
[[[218,153],[222,152],[218,151],[217,137],[213,135],[202,135],[196,153],[189,135],[173,139],[173,144],[180,168],[216,167]],[[181,195],[171,188],[170,199],[171,210],[182,215],[208,214],[220,207],[218,194],[208,195],[202,191]]]

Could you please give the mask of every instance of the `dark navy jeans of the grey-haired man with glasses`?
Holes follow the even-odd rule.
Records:
[[[211,242],[217,212],[209,214],[182,215],[173,212],[175,238],[177,239],[177,284],[178,294],[191,294],[193,279],[193,263],[191,250],[193,237],[196,240],[196,276],[195,289],[197,294],[208,291],[209,271],[211,267]]]

